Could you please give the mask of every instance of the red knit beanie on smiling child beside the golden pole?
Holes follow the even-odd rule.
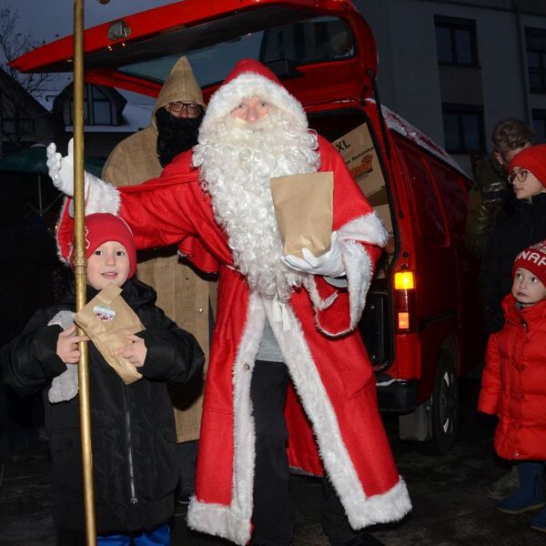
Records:
[[[129,257],[131,266],[129,278],[133,277],[136,272],[136,246],[133,233],[130,227],[127,226],[126,221],[106,212],[90,214],[89,216],[86,216],[85,221],[86,258],[88,259],[93,252],[95,252],[96,248],[107,241],[121,243],[126,248]],[[61,258],[72,266],[72,260],[74,258],[74,235],[72,235],[68,244],[66,244],[66,238],[65,240],[57,238],[57,244]]]

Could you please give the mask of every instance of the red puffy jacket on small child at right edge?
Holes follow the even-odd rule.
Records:
[[[516,308],[502,300],[506,323],[492,334],[478,409],[496,414],[495,450],[509,460],[546,460],[546,300]]]

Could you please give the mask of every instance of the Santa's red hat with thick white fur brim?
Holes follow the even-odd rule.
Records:
[[[295,123],[308,126],[303,106],[288,93],[278,77],[258,61],[243,59],[210,97],[201,130],[207,132],[218,119],[227,116],[243,99],[251,96],[263,98],[270,105],[288,112]]]

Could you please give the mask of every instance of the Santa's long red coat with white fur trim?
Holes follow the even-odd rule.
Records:
[[[349,287],[333,288],[324,278],[308,276],[286,305],[251,293],[233,268],[226,234],[197,171],[189,167],[190,154],[177,157],[162,177],[144,185],[91,189],[86,206],[88,212],[119,212],[137,248],[179,243],[198,267],[219,268],[217,324],[188,522],[238,544],[251,535],[250,381],[266,319],[297,392],[289,393],[286,410],[290,464],[314,474],[323,465],[355,529],[397,521],[411,508],[379,417],[371,364],[355,330],[386,232],[343,159],[320,137],[319,154],[320,171],[334,173],[332,228],[342,242]],[[60,238],[67,224],[61,227]]]

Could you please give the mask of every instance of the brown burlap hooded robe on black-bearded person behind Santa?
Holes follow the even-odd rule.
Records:
[[[157,96],[152,123],[128,136],[112,151],[102,177],[115,186],[134,186],[158,177],[163,170],[157,159],[157,108],[181,100],[203,104],[188,65],[178,61]],[[191,332],[205,353],[207,373],[209,349],[209,301],[216,308],[217,281],[197,273],[177,257],[176,248],[139,253],[136,277],[157,290],[157,306],[178,326]],[[204,381],[184,389],[171,389],[177,423],[177,441],[197,440],[201,423]]]

